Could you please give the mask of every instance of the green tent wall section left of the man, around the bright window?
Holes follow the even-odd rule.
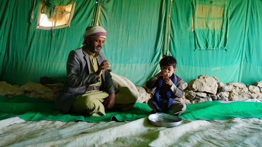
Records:
[[[35,8],[39,3],[36,1]],[[32,23],[27,19],[33,2],[4,0],[0,4],[0,18],[4,18],[0,21],[4,36],[0,38],[0,81],[22,85],[47,76],[56,83],[64,83],[68,54],[83,46],[83,34],[86,26],[91,26],[95,0],[78,0],[70,27],[54,29],[53,36],[50,30],[36,29],[37,11]]]

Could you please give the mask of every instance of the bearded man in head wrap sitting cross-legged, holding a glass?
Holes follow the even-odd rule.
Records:
[[[105,29],[89,26],[83,37],[84,46],[69,53],[67,82],[53,108],[93,116],[106,115],[105,109],[127,111],[133,108],[136,97],[127,87],[115,89],[107,71],[110,64],[101,52],[106,39]]]

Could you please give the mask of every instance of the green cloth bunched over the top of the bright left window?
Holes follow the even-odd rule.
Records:
[[[53,17],[55,6],[67,6],[75,3],[77,0],[45,0],[43,12],[48,18]]]

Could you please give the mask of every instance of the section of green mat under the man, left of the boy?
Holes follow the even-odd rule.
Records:
[[[26,121],[86,121],[108,122],[115,117],[118,121],[134,121],[149,115],[151,108],[144,103],[136,103],[128,112],[106,111],[104,116],[90,116],[85,114],[64,114],[52,109],[53,102],[38,98],[19,95],[12,98],[0,96],[0,120],[17,116]]]

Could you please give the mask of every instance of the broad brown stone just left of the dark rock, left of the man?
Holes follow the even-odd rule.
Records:
[[[20,91],[34,91],[38,94],[44,94],[46,92],[52,92],[52,90],[42,84],[35,82],[27,82],[19,88]]]

